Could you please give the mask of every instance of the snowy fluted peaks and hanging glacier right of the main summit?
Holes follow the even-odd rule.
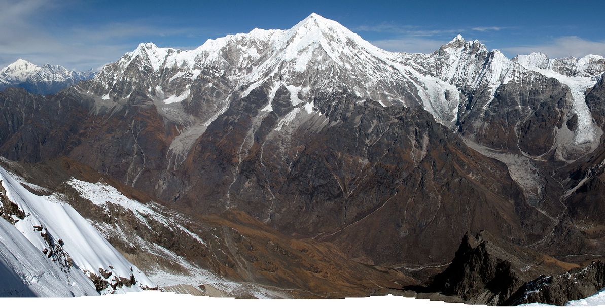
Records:
[[[584,92],[597,84],[603,76],[605,59],[602,56],[551,60],[545,54],[532,53],[507,59],[499,50],[488,51],[479,41],[466,42],[460,35],[434,53],[402,53],[400,56],[402,61],[410,63],[419,71],[439,77],[455,85],[464,96],[473,97],[465,103],[464,108],[459,108],[459,122],[477,110],[482,113],[477,117],[479,122],[482,121],[485,112],[490,112],[489,104],[496,91],[511,80],[517,84],[528,84],[536,78],[550,77],[565,85],[573,98],[569,117],[578,117],[574,142],[590,143],[597,137],[598,128],[592,124]],[[526,114],[534,111],[523,106],[519,108]],[[480,123],[475,122],[475,125]]]

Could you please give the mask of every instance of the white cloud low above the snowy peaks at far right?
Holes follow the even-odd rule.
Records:
[[[545,53],[548,57],[583,57],[587,54],[605,56],[605,41],[589,41],[578,36],[562,36],[545,44],[521,45],[502,48],[511,54]]]

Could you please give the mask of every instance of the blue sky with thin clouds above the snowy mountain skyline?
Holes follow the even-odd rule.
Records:
[[[391,51],[430,52],[456,34],[507,56],[605,55],[601,1],[47,1],[0,0],[0,67],[19,57],[79,70],[140,42],[195,48],[315,12]]]

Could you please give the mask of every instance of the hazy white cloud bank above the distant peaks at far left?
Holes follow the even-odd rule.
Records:
[[[63,6],[62,6],[63,5]],[[116,61],[136,48],[133,38],[188,35],[188,28],[159,27],[146,21],[104,25],[46,28],[39,21],[60,12],[65,2],[0,0],[0,67],[18,58],[36,65],[59,64],[87,70]]]

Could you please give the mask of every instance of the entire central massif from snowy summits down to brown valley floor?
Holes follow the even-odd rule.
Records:
[[[390,53],[313,14],[195,50],[141,44],[54,95],[5,90],[0,155],[67,157],[191,217],[245,213],[374,266],[443,266],[482,230],[583,262],[605,249],[604,71],[600,56],[507,59],[461,36]],[[467,242],[497,256],[459,261],[491,277],[461,287],[468,301],[539,275]],[[489,289],[492,274],[510,281]]]

